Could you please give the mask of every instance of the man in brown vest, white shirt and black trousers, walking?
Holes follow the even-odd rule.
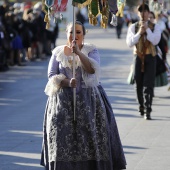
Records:
[[[156,75],[156,48],[161,38],[157,24],[149,22],[149,6],[138,6],[139,22],[129,26],[126,43],[134,47],[134,80],[139,112],[151,120],[153,88]]]

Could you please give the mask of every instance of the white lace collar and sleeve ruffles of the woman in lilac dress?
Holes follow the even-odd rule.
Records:
[[[64,47],[65,47],[64,45],[56,47],[52,51],[52,54],[56,56],[56,60],[58,62],[62,63],[62,67],[71,68],[71,64],[68,60],[68,57],[66,57],[64,55]],[[84,53],[86,56],[89,57],[89,62],[91,64],[92,68],[95,70],[94,74],[88,74],[83,69],[79,57],[77,55],[75,56],[75,68],[81,67],[82,78],[83,78],[83,81],[84,81],[84,83],[87,87],[94,87],[94,86],[97,86],[99,84],[99,76],[100,76],[100,58],[99,58],[99,55],[97,53],[97,55],[95,54],[94,56],[93,55],[89,56],[89,53],[93,52],[93,50],[95,50],[95,49],[96,49],[96,47],[94,45],[85,43],[82,50],[81,50],[82,53]],[[69,59],[73,60],[73,56],[69,56]],[[55,76],[52,76],[49,79],[49,81],[46,85],[46,88],[45,88],[46,95],[51,96],[51,95],[56,94],[56,92],[60,88],[61,81],[64,80],[65,78],[66,78],[66,76],[62,73],[56,74]]]

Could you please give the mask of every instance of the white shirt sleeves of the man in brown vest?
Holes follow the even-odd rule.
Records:
[[[155,24],[154,31],[152,32],[150,28],[146,29],[146,39],[150,41],[153,45],[157,45],[161,38],[161,31],[157,24]],[[130,25],[128,28],[127,36],[126,36],[126,44],[128,47],[133,47],[139,41],[140,34],[135,33],[135,23]]]

